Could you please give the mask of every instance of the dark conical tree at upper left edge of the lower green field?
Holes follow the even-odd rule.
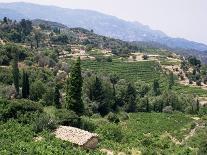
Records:
[[[126,112],[136,111],[137,109],[136,89],[130,83],[128,84],[124,101],[125,101]]]

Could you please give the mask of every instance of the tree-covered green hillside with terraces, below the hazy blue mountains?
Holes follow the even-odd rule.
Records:
[[[0,154],[206,154],[207,66],[175,52],[0,20]],[[96,133],[97,147],[62,140],[79,135],[59,126]]]

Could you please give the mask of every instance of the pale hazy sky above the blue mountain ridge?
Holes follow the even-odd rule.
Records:
[[[15,2],[18,0],[0,0]],[[97,10],[139,21],[173,37],[207,44],[207,0],[20,0],[65,8]]]

